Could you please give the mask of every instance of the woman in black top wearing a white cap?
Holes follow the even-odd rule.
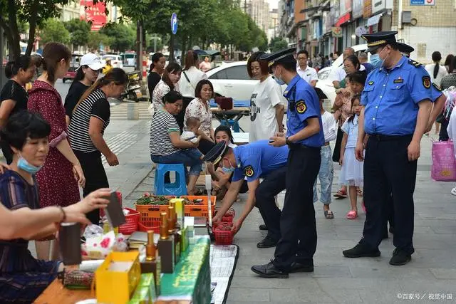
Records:
[[[81,58],[79,68],[76,70],[76,77],[71,83],[70,90],[65,98],[65,118],[66,125],[70,125],[73,110],[76,107],[79,99],[90,85],[92,85],[100,74],[103,68],[100,58],[93,53],[88,53]]]

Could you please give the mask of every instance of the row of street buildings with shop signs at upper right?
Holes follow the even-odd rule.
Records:
[[[429,62],[433,51],[456,53],[455,0],[281,0],[279,36],[310,56],[365,43],[364,33],[398,31]]]

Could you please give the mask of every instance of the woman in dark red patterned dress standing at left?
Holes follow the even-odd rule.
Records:
[[[68,206],[81,199],[78,184],[84,187],[86,179],[71,150],[67,139],[65,109],[61,95],[54,85],[63,78],[70,66],[71,51],[61,43],[47,43],[43,49],[43,73],[33,83],[28,93],[27,108],[39,113],[51,125],[49,154],[41,170],[36,174],[40,206]],[[57,242],[56,242],[57,243]],[[36,242],[38,258],[48,259],[50,243]],[[56,259],[56,250],[53,259]]]

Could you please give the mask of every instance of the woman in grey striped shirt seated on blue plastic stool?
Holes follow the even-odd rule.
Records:
[[[195,184],[201,172],[203,155],[197,150],[196,142],[180,138],[180,128],[173,115],[182,111],[182,95],[170,91],[163,98],[163,107],[155,112],[150,122],[150,159],[155,164],[184,164],[185,171],[190,167],[187,192],[195,194]]]

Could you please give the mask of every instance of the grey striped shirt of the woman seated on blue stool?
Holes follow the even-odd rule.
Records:
[[[172,145],[170,132],[180,134],[179,125],[169,112],[159,109],[150,122],[150,154],[165,156],[180,150]]]

